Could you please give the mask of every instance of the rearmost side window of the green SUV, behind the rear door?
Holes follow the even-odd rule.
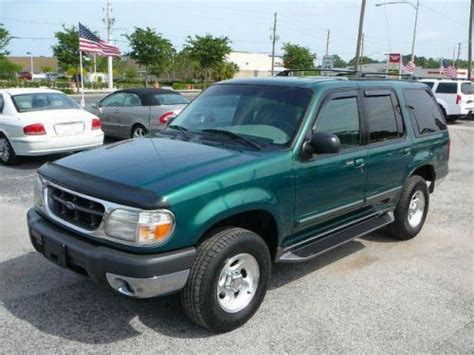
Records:
[[[404,90],[410,117],[419,135],[446,129],[443,114],[438,103],[427,90]]]

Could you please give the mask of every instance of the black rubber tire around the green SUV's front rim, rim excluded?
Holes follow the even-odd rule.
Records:
[[[255,258],[260,277],[245,308],[229,313],[219,304],[217,284],[229,259],[242,253]],[[214,332],[227,332],[240,327],[255,314],[267,292],[270,275],[270,252],[262,238],[242,228],[220,229],[198,246],[196,260],[181,294],[181,303],[188,317],[197,324]]]

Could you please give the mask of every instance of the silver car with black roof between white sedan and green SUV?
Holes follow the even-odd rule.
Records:
[[[141,137],[162,129],[189,103],[180,93],[167,89],[125,89],[113,92],[92,105],[106,136]]]

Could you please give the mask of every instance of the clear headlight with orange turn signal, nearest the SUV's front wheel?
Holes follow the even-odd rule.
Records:
[[[163,244],[173,233],[174,216],[170,211],[113,210],[104,224],[109,237],[137,244]]]

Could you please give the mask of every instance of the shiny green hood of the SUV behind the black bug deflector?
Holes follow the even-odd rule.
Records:
[[[254,151],[144,137],[74,154],[54,165],[163,196],[176,187],[263,156]],[[68,186],[68,181],[61,183]]]

